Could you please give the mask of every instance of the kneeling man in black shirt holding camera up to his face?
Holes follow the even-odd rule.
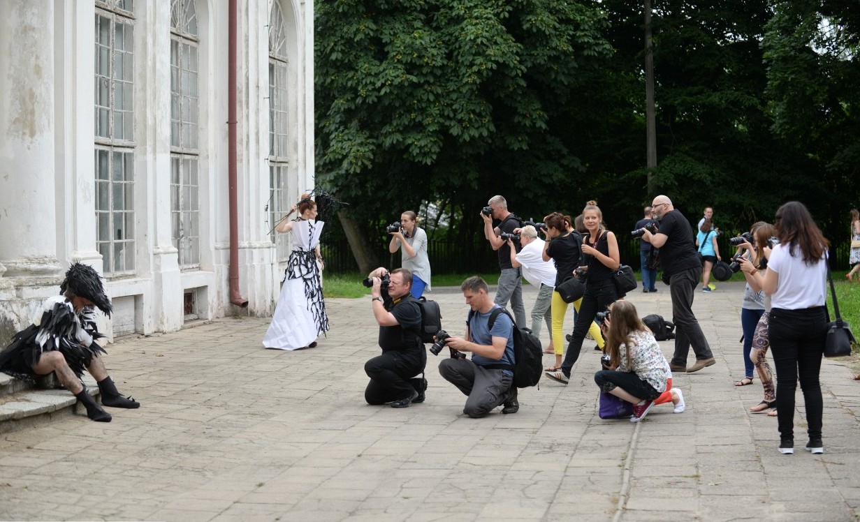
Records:
[[[382,355],[365,363],[371,378],[365,389],[367,404],[391,404],[408,408],[424,402],[427,379],[415,378],[424,372],[427,353],[421,343],[421,308],[409,292],[412,272],[404,268],[373,270],[365,285],[371,286],[373,316],[379,325]]]

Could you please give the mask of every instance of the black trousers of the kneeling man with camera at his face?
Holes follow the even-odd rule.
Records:
[[[411,397],[415,392],[411,379],[424,371],[426,361],[415,361],[392,349],[365,362],[365,373],[371,378],[365,388],[367,404],[385,404]]]

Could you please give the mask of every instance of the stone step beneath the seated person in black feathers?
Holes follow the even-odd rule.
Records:
[[[99,387],[89,373],[84,373],[83,384],[91,396],[98,397]],[[75,415],[78,410],[76,404],[77,398],[68,390],[43,389],[0,373],[0,434],[60,416]],[[85,413],[83,406],[79,409]]]

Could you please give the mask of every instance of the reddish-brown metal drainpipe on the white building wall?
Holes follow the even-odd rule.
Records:
[[[237,20],[239,17],[238,0],[230,0],[230,21],[228,39],[227,67],[227,152],[228,179],[230,185],[230,303],[237,307],[248,307],[248,300],[239,293],[239,203],[237,196],[237,152],[236,152],[236,41]]]

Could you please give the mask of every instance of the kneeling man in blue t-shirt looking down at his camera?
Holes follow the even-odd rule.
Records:
[[[439,374],[467,395],[463,413],[473,419],[487,415],[504,404],[502,413],[516,413],[517,387],[513,385],[513,321],[507,313],[496,315],[489,328],[489,316],[498,308],[489,298],[487,282],[472,276],[460,286],[471,308],[465,337],[451,336],[445,346],[456,349],[450,359],[439,363]],[[472,358],[458,356],[471,352]]]

